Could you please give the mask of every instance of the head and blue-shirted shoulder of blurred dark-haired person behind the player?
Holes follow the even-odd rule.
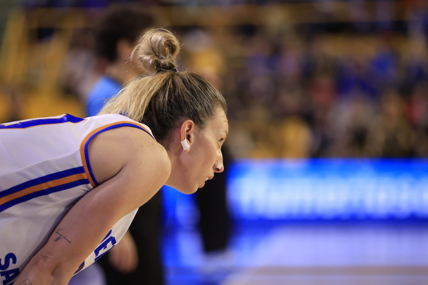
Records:
[[[86,112],[97,115],[104,103],[122,86],[145,71],[131,61],[132,49],[142,33],[153,25],[141,6],[110,6],[95,28],[95,54],[103,74],[86,99]]]

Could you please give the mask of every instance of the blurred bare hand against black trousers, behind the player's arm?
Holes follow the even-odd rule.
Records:
[[[109,252],[110,264],[121,273],[130,273],[137,269],[138,253],[134,238],[126,232],[123,238]]]

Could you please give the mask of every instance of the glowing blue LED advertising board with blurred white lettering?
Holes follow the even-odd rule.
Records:
[[[233,217],[348,220],[428,217],[426,160],[238,160],[229,170]]]

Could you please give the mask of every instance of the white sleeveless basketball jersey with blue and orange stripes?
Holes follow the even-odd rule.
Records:
[[[89,163],[89,141],[121,126],[153,137],[146,125],[114,114],[84,119],[65,114],[0,124],[0,284],[19,275],[74,203],[98,185]],[[136,212],[105,233],[76,273],[120,241]]]

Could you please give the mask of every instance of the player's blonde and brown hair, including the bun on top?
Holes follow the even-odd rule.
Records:
[[[131,57],[147,72],[129,82],[98,114],[122,114],[145,123],[166,146],[167,135],[182,121],[193,120],[203,129],[219,107],[226,112],[226,101],[209,82],[195,73],[177,71],[179,50],[177,38],[168,30],[146,32]]]

